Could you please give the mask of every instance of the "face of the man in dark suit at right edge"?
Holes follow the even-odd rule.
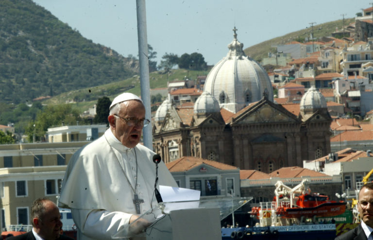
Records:
[[[359,210],[361,220],[370,227],[373,227],[373,189],[364,188],[359,193]]]

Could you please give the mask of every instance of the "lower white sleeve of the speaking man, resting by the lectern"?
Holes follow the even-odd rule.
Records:
[[[106,210],[71,209],[73,220],[80,231],[93,239],[112,239],[112,236],[128,236],[132,214]]]

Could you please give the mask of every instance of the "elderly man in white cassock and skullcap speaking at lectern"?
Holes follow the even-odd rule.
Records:
[[[102,137],[71,157],[64,177],[59,206],[71,209],[78,240],[128,239],[129,224],[157,205],[155,153],[138,144],[149,123],[141,99],[120,94],[110,105],[108,121]],[[163,162],[158,171],[159,185],[177,187]]]

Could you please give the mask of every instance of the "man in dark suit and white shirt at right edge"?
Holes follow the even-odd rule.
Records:
[[[359,191],[357,202],[361,224],[335,240],[373,240],[373,183],[367,183]]]

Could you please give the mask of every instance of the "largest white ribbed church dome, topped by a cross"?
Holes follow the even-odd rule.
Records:
[[[229,52],[207,75],[204,91],[210,92],[220,107],[236,113],[249,103],[259,101],[263,94],[273,102],[273,91],[266,70],[245,55],[243,44],[237,40],[237,29],[233,31]]]

